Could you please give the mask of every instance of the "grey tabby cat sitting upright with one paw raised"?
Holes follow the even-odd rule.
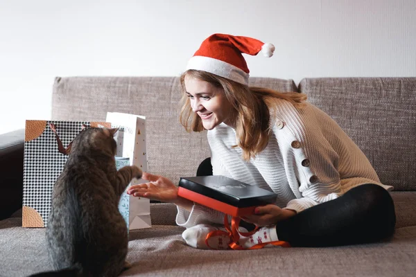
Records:
[[[46,227],[57,271],[34,276],[118,276],[128,264],[128,230],[118,208],[137,166],[116,170],[117,129],[89,128],[76,136],[52,194]]]

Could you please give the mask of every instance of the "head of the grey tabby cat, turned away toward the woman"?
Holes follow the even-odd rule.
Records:
[[[96,151],[105,152],[115,156],[116,154],[116,141],[114,135],[119,128],[97,128],[90,127],[83,129],[71,145],[71,154],[78,151]]]

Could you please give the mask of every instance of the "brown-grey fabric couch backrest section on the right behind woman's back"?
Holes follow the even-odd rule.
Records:
[[[383,184],[416,190],[416,78],[306,78],[299,91],[347,132]]]

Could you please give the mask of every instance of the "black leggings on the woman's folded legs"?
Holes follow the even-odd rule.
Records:
[[[212,175],[209,158],[197,175]],[[395,205],[375,184],[357,186],[333,199],[277,223],[277,237],[292,247],[333,247],[379,242],[395,231]],[[243,226],[243,224],[241,224]]]

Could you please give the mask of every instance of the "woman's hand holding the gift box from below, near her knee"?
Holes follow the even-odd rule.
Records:
[[[292,217],[296,212],[279,206],[269,204],[266,206],[259,206],[254,209],[254,215],[245,215],[241,217],[245,222],[255,224],[257,226],[267,226],[276,224],[281,220]]]

